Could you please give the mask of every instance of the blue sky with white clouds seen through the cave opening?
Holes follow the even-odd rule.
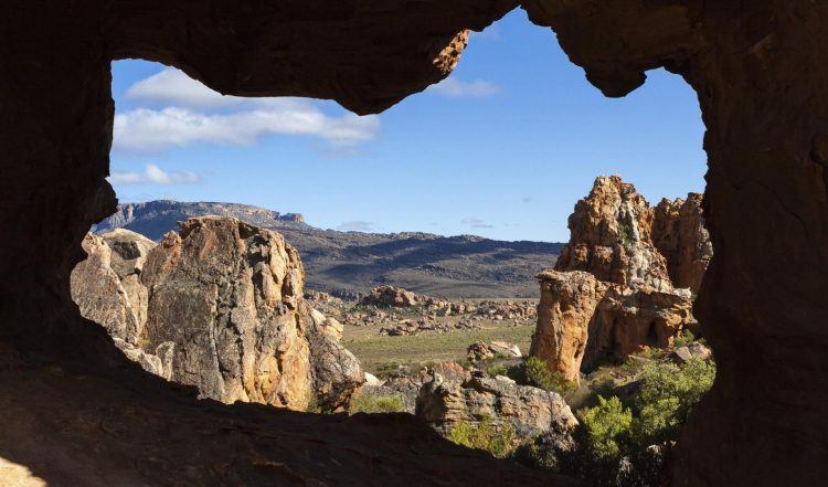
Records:
[[[474,34],[455,73],[388,112],[220,97],[180,72],[113,64],[110,181],[121,201],[227,201],[339,230],[566,241],[596,176],[651,204],[702,191],[694,93],[664,71],[605,98],[518,10]]]

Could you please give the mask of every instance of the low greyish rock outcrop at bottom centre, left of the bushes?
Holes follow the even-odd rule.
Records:
[[[420,390],[416,415],[442,434],[460,423],[474,426],[484,421],[495,427],[509,424],[523,438],[577,425],[560,394],[518,385],[502,375],[457,381],[435,374]]]

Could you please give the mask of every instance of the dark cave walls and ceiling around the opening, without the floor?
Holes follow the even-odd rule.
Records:
[[[448,75],[464,30],[480,30],[514,7],[3,2],[0,339],[105,378],[128,368],[105,332],[79,317],[68,290],[84,233],[115,210],[105,180],[112,60],[174,65],[225,94],[331,98],[376,113]],[[522,8],[556,32],[607,96],[629,93],[660,66],[699,95],[715,253],[696,315],[719,374],[665,483],[819,485],[828,476],[828,6],[523,0]]]

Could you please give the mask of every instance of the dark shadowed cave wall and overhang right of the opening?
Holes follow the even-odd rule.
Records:
[[[818,32],[828,6],[521,3],[605,94],[626,95],[664,66],[699,96],[715,254],[694,313],[716,379],[671,455],[670,485],[820,485],[828,476],[828,39]]]

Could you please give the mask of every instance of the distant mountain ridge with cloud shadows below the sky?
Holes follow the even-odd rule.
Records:
[[[124,227],[157,241],[178,230],[178,222],[205,215],[232,216],[282,233],[301,255],[306,287],[343,295],[393,284],[445,297],[535,297],[535,274],[553,265],[564,245],[423,232],[339,232],[308,225],[300,213],[170,200],[120,204],[92,230]]]

